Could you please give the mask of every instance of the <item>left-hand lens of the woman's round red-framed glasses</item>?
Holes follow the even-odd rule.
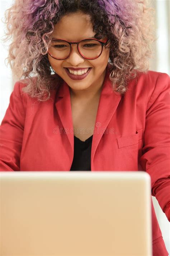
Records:
[[[65,59],[70,54],[70,45],[63,40],[52,40],[49,53],[57,59]]]

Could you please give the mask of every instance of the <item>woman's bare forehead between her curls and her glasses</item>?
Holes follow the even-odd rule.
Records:
[[[54,26],[53,38],[62,38],[68,41],[79,41],[94,37],[93,24],[90,15],[82,12],[70,13],[63,16]]]

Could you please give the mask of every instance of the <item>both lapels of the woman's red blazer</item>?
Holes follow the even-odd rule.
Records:
[[[115,113],[115,110],[117,109],[117,106],[122,98],[121,95],[113,91],[112,82],[109,79],[109,67],[110,64],[108,64],[107,66],[103,88],[100,94],[91,147],[91,161],[93,161],[96,148],[104,133],[104,130],[107,128],[110,119]],[[65,133],[67,134],[67,137],[69,139],[72,148],[72,154],[74,154],[74,130],[72,122],[70,90],[68,84],[64,81],[58,88],[55,105],[61,122],[63,124],[63,128],[65,129]]]

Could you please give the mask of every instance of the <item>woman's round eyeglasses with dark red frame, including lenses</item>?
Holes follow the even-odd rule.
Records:
[[[68,42],[62,39],[52,39],[48,54],[57,60],[67,59],[72,51],[72,44],[77,45],[80,55],[88,60],[99,58],[103,52],[103,46],[107,45],[108,40],[97,40],[95,38],[84,39],[79,42]]]

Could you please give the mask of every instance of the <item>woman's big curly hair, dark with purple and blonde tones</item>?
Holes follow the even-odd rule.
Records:
[[[146,7],[146,0],[16,0],[5,11],[3,41],[12,38],[6,59],[14,77],[27,85],[22,90],[39,101],[48,100],[53,81],[56,86],[62,79],[52,74],[47,55],[54,25],[77,11],[90,15],[96,39],[107,36],[109,40],[110,81],[115,92],[126,93],[128,80],[149,69],[152,42],[157,38],[155,10]]]

